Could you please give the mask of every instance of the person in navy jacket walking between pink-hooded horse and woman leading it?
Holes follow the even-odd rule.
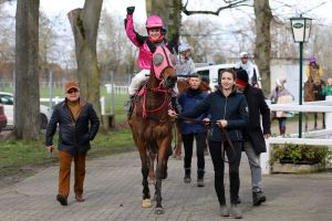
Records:
[[[199,103],[201,103],[206,97],[207,93],[199,90],[200,78],[198,75],[194,75],[189,78],[190,87],[178,97],[178,103],[181,106],[183,112],[190,110],[195,108]],[[196,120],[203,120],[207,115],[203,114],[196,118]],[[207,127],[204,124],[197,124],[191,122],[181,123],[181,137],[185,148],[185,177],[184,181],[189,183],[191,181],[191,157],[194,149],[194,138],[196,138],[196,154],[197,154],[197,187],[204,187],[204,169],[205,159],[204,150],[206,148],[206,136]]]

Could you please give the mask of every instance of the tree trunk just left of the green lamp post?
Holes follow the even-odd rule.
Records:
[[[270,55],[271,55],[271,38],[270,24],[272,20],[272,12],[269,6],[269,0],[253,1],[256,15],[256,48],[255,62],[260,71],[262,77],[261,82],[264,94],[270,94]]]

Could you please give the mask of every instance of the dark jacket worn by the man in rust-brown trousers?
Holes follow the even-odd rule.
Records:
[[[92,104],[81,99],[80,105],[81,110],[76,122],[73,120],[65,101],[54,107],[46,128],[46,146],[53,145],[53,135],[59,124],[59,150],[73,155],[85,152],[91,148],[90,140],[93,140],[98,130],[100,119]]]

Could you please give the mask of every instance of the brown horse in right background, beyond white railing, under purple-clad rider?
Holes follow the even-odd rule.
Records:
[[[324,101],[325,97],[320,94],[325,82],[321,80],[319,74],[319,67],[317,65],[309,66],[309,77],[304,83],[304,102],[315,102],[315,101]],[[317,129],[317,118],[318,114],[314,113],[314,129]],[[305,131],[308,131],[308,114],[304,114],[305,117]],[[322,113],[323,122],[322,127],[325,128],[325,114]]]

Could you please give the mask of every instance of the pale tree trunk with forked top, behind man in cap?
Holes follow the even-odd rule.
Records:
[[[103,0],[85,0],[83,9],[68,13],[75,39],[77,78],[81,96],[91,102],[101,118],[100,69],[97,66],[96,36]]]

